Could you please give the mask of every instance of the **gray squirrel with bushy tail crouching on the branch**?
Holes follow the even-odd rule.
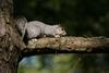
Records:
[[[26,34],[27,39],[39,36],[61,37],[66,35],[66,32],[60,25],[48,25],[39,21],[27,22],[25,17],[15,19],[15,26],[22,38]]]

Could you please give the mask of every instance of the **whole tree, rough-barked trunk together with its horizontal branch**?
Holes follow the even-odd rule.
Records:
[[[13,1],[0,0],[0,73],[16,73],[22,56],[72,51],[93,51],[109,48],[109,38],[60,37],[29,40],[23,44],[13,21]],[[105,49],[108,50],[108,49]],[[109,50],[108,50],[109,51]]]

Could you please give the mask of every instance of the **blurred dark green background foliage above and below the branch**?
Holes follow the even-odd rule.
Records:
[[[68,36],[109,37],[109,0],[14,0],[14,15],[61,24]],[[60,53],[24,58],[19,73],[109,73],[108,53]]]

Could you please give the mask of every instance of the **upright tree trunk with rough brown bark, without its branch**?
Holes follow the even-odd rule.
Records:
[[[16,73],[24,44],[13,22],[13,1],[0,0],[0,73]]]

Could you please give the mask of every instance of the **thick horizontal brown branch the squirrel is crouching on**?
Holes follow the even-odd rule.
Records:
[[[60,38],[40,38],[37,41],[29,40],[24,52],[35,51],[36,53],[48,52],[90,52],[90,51],[107,51],[109,48],[109,38],[104,37],[60,37]],[[45,50],[45,51],[44,51]]]

